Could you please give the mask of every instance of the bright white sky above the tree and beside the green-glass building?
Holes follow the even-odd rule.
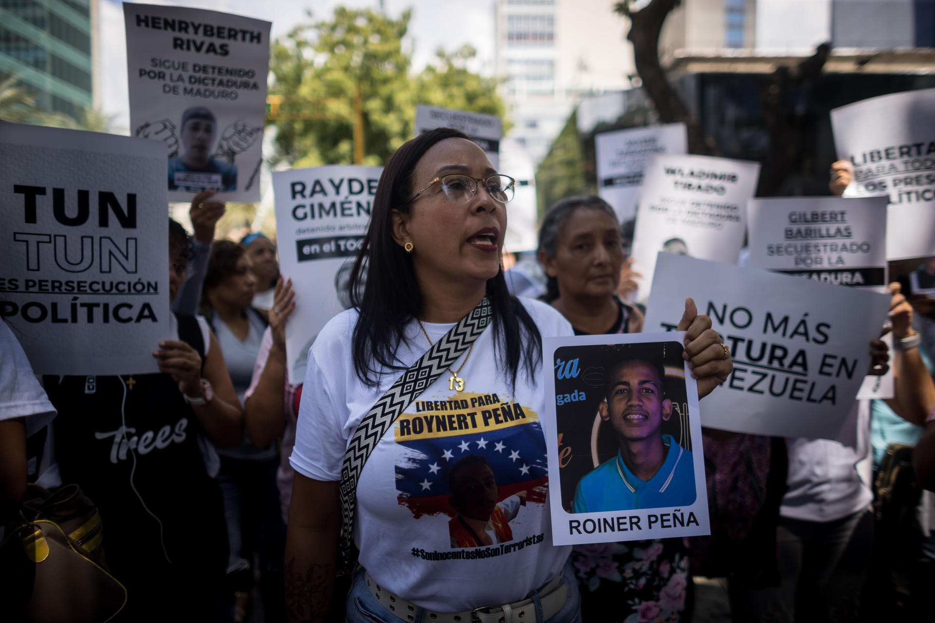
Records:
[[[273,38],[309,21],[309,10],[317,21],[328,19],[338,6],[378,8],[381,5],[377,0],[144,0],[144,4],[209,8],[272,21]],[[487,75],[493,73],[494,0],[385,0],[382,4],[392,17],[398,17],[408,7],[412,8],[409,36],[414,70],[419,71],[429,63],[439,47],[453,51],[469,43],[478,50],[479,63],[473,67],[475,71]],[[125,134],[130,126],[130,116],[121,5],[120,0],[100,0],[99,5],[101,107],[106,115],[115,117],[115,130]]]

